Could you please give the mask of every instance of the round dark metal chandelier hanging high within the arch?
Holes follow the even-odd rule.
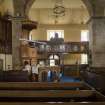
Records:
[[[65,7],[63,6],[63,0],[55,0],[53,14],[55,16],[55,21],[57,20],[57,18],[65,16]]]

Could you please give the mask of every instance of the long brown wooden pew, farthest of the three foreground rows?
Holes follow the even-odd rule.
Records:
[[[51,89],[90,89],[83,82],[48,83],[48,82],[0,82],[0,90],[51,90]]]

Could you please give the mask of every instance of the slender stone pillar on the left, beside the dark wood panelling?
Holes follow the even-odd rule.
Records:
[[[20,41],[19,38],[22,34],[21,18],[12,19],[12,64],[13,70],[19,70],[21,67],[20,57]]]

